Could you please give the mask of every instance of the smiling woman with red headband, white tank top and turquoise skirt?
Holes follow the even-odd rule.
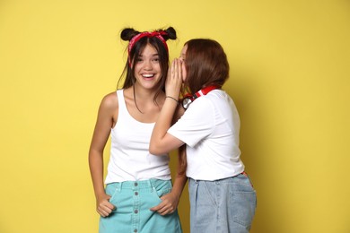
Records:
[[[177,207],[187,177],[179,173],[172,187],[169,155],[158,157],[148,150],[165,101],[166,40],[176,39],[176,31],[125,29],[121,39],[129,41],[122,73],[126,79],[122,89],[102,99],[89,152],[100,232],[182,232]],[[109,134],[104,188],[103,151]]]

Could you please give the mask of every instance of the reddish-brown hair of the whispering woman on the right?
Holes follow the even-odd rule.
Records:
[[[223,47],[214,39],[190,39],[185,46],[185,89],[195,93],[209,85],[223,86],[230,71]]]

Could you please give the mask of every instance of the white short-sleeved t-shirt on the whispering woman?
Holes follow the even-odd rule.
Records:
[[[197,98],[168,133],[187,144],[187,177],[217,180],[244,171],[240,116],[225,91],[214,90]]]

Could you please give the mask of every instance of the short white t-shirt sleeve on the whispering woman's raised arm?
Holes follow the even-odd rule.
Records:
[[[168,133],[194,147],[214,130],[214,107],[209,99],[196,99]]]

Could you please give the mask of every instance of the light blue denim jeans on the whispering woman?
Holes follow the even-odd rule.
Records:
[[[246,233],[257,207],[247,175],[214,181],[189,178],[191,233]]]

